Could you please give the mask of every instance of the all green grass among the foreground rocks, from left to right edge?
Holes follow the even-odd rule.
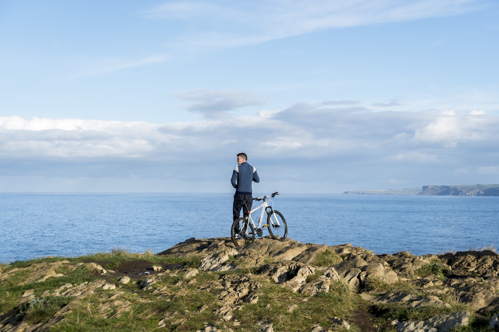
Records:
[[[120,285],[117,277],[112,274],[103,276],[86,264],[95,262],[106,270],[112,270],[123,262],[133,260],[146,260],[151,265],[177,264],[179,267],[172,273],[157,275],[156,283],[144,291],[140,288],[140,280]],[[109,253],[77,258],[50,257],[3,264],[0,266],[0,274],[5,276],[0,282],[0,316],[22,320],[28,324],[51,324],[50,320],[55,313],[65,312],[64,319],[48,330],[83,332],[197,331],[203,330],[208,324],[222,331],[231,329],[256,332],[264,323],[272,324],[274,331],[310,331],[317,324],[324,330],[342,331],[337,330],[338,327],[332,321],[333,317],[338,317],[349,322],[349,331],[361,332],[362,327],[357,320],[360,316],[368,316],[369,309],[371,314],[377,316],[378,326],[388,329],[394,319],[424,320],[466,309],[464,304],[457,301],[456,294],[439,294],[436,290],[432,293],[431,289],[420,290],[408,281],[387,284],[375,276],[366,278],[363,292],[405,290],[419,297],[437,295],[450,303],[451,307],[427,306],[415,309],[406,304],[386,303],[368,308],[370,304],[363,301],[343,280],[332,280],[327,293],[309,297],[276,284],[261,273],[251,259],[231,256],[229,261],[238,269],[226,272],[200,271],[189,279],[184,279],[183,276],[188,268],[199,266],[201,258],[198,256],[165,257],[148,252],[138,254],[113,249]],[[333,251],[325,250],[316,255],[313,265],[328,267],[339,261],[341,259]],[[56,272],[63,273],[64,276],[48,278],[42,282],[29,281],[37,268],[49,264],[56,266]],[[309,276],[307,280],[320,278],[320,270],[316,269],[316,274]],[[443,273],[444,266],[437,259],[418,270],[422,277],[435,275],[440,278]],[[76,286],[103,278],[118,287],[115,290],[96,288],[93,293],[80,297],[54,294],[55,289],[66,284]],[[238,288],[237,281],[243,278],[250,280],[251,295],[257,296],[258,301],[247,303],[244,298],[238,297],[236,302],[228,304],[230,310],[234,310],[233,319],[224,321],[217,314],[217,310],[224,304],[222,294],[227,291],[227,284],[233,285],[235,293],[246,289],[247,286]],[[34,294],[23,298],[22,295],[27,290],[34,290]],[[469,327],[461,328],[458,332],[489,331],[483,329],[483,322],[475,320]]]

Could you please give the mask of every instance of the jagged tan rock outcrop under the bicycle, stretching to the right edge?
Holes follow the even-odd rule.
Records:
[[[205,266],[217,266],[211,271],[227,271],[235,267],[228,257],[225,262],[219,259],[220,253],[228,250],[227,246],[232,248],[225,238],[193,238],[160,254],[201,254]],[[467,311],[425,321],[395,322],[397,331],[449,331],[467,325],[470,315],[499,311],[499,257],[491,250],[424,256],[407,251],[376,255],[350,244],[327,247],[302,244],[291,239],[280,242],[266,238],[232,249],[233,254],[237,251],[237,256],[249,259],[249,264],[261,266],[259,271],[262,275],[292,292],[309,296],[327,293],[331,281],[342,280],[373,306],[404,304],[408,308],[467,308]],[[315,257],[326,250],[334,252],[341,260],[327,267],[316,266]],[[272,263],[264,264],[263,257],[274,259]],[[317,274],[319,278],[307,281]],[[373,280],[391,290],[370,291]],[[398,290],[396,284],[399,282],[411,285],[409,290]]]

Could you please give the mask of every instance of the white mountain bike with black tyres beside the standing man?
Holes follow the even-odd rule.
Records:
[[[249,211],[248,209],[247,202],[243,200],[241,201],[248,211],[248,216],[238,218],[232,223],[231,237],[236,246],[239,246],[239,244],[242,243],[253,243],[255,235],[258,235],[258,237],[261,237],[263,235],[263,227],[268,228],[268,232],[273,239],[282,241],[286,238],[286,220],[279,211],[272,209],[273,202],[271,199],[269,199],[274,198],[275,195],[279,195],[279,193],[275,192],[267,196],[253,198],[253,201],[263,201],[263,203],[251,211]],[[255,223],[255,221],[253,221],[253,218],[251,217],[251,214],[259,209],[261,209],[261,213],[258,221]],[[267,223],[262,224],[264,212],[267,213]],[[239,229],[240,232],[237,233],[236,229]]]

